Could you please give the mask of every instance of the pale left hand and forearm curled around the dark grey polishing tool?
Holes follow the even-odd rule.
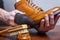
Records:
[[[0,20],[10,26],[16,26],[16,25],[18,25],[14,22],[14,17],[15,17],[16,13],[25,14],[25,13],[20,12],[18,10],[7,12],[7,11],[0,8]]]

